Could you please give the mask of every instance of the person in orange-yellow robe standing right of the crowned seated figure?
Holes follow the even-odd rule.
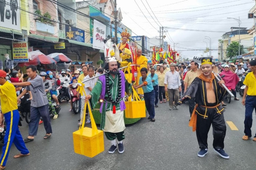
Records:
[[[137,85],[139,85],[139,77],[141,77],[140,69],[147,68],[147,59],[145,56],[143,56],[141,54],[142,54],[142,50],[138,49],[137,50],[137,63],[136,63],[136,67],[137,67],[137,82],[136,83],[137,83]],[[144,94],[142,88],[138,88],[138,94]]]

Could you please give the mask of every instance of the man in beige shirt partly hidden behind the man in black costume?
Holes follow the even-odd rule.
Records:
[[[186,73],[185,78],[184,78],[184,92],[186,92],[187,88],[191,85],[192,81],[197,77],[197,70],[198,70],[198,63],[195,61],[191,61],[191,70]],[[189,113],[190,117],[192,115],[192,112],[195,107],[195,99],[190,99],[189,100]]]

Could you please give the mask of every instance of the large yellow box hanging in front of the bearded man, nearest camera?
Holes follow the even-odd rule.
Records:
[[[98,134],[97,134],[97,131]],[[74,152],[88,156],[90,158],[104,151],[103,131],[89,127],[83,128],[82,136],[81,130],[73,132]]]

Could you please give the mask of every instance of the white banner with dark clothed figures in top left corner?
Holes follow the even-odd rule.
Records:
[[[19,0],[0,0],[0,26],[20,30]]]

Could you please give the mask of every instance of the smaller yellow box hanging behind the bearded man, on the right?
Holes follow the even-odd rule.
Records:
[[[125,102],[125,117],[126,118],[145,118],[146,108],[145,101]]]

